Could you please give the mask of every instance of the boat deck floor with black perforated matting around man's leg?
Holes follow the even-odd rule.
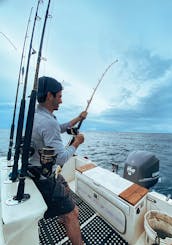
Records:
[[[76,205],[79,207],[81,232],[86,245],[128,244],[80,197],[73,192],[72,195]],[[58,222],[58,217],[41,219],[39,221],[39,229],[40,245],[72,244],[66,236],[63,224]]]

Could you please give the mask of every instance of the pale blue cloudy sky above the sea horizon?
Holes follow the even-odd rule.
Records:
[[[35,50],[47,2],[39,8]],[[36,5],[36,0],[0,0],[0,128],[11,125],[26,26],[33,7],[25,68]],[[51,0],[39,76],[63,84],[58,120],[85,110],[103,72],[118,59],[103,77],[82,129],[172,133],[171,9],[171,0]],[[32,55],[27,104],[36,61]]]

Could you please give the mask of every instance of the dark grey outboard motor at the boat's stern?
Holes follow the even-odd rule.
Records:
[[[123,177],[150,188],[159,178],[159,160],[151,152],[133,151],[127,157]]]

